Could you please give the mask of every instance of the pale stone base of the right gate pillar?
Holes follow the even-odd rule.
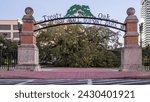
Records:
[[[120,71],[144,71],[142,49],[139,46],[128,46],[122,49]]]

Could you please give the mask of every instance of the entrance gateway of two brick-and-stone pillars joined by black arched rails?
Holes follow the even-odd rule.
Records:
[[[16,66],[16,69],[38,71],[40,70],[40,65],[39,65],[39,50],[36,46],[35,31],[37,31],[37,29],[35,29],[35,25],[39,23],[35,22],[35,19],[33,17],[33,9],[31,7],[27,7],[25,9],[25,13],[26,15],[24,15],[22,18],[23,27],[22,27],[22,32],[20,34],[21,44],[18,46],[18,65]],[[101,23],[99,24],[99,23],[83,23],[83,22],[61,23],[61,24],[55,24],[50,26],[48,25],[45,28],[58,26],[58,25],[66,25],[66,24],[95,24],[95,25],[107,26],[114,29],[119,29],[121,31],[125,31],[124,48],[122,48],[121,51],[120,70],[121,71],[142,71],[143,70],[142,49],[138,44],[139,34],[137,32],[138,19],[134,14],[135,14],[135,9],[129,8],[127,10],[128,16],[125,19],[125,23],[120,23],[120,22],[110,20],[110,22],[124,25],[125,30],[118,27],[101,24]],[[79,18],[91,19],[91,17],[79,17]],[[60,18],[60,19],[65,19],[65,18]],[[97,19],[97,18],[93,18],[93,19]],[[99,20],[105,21],[105,19],[99,19]],[[44,29],[44,28],[40,28],[40,29]]]

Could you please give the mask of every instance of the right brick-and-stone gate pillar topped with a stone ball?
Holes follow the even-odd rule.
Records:
[[[142,71],[142,49],[138,44],[137,24],[138,19],[134,15],[135,9],[128,8],[125,20],[126,33],[124,35],[124,48],[121,50],[121,71]]]

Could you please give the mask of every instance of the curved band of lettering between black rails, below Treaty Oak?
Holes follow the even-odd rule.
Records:
[[[113,29],[117,29],[123,32],[125,31],[125,24],[110,20],[110,19],[103,19],[103,18],[96,18],[96,17],[62,17],[62,18],[55,18],[50,20],[44,20],[41,22],[37,22],[34,25],[39,25],[37,29],[34,31],[39,31],[42,29],[56,27],[61,25],[69,25],[69,24],[90,24],[90,25],[100,25],[104,27],[109,27]]]

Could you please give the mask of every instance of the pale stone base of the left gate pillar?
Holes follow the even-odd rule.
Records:
[[[18,46],[18,65],[16,70],[39,71],[39,49],[35,44]]]

